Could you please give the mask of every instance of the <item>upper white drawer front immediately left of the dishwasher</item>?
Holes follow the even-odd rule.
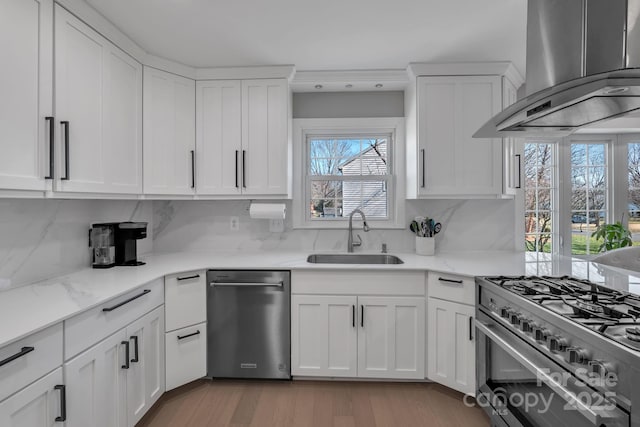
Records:
[[[204,270],[166,276],[164,295],[167,332],[207,320],[207,280]]]

